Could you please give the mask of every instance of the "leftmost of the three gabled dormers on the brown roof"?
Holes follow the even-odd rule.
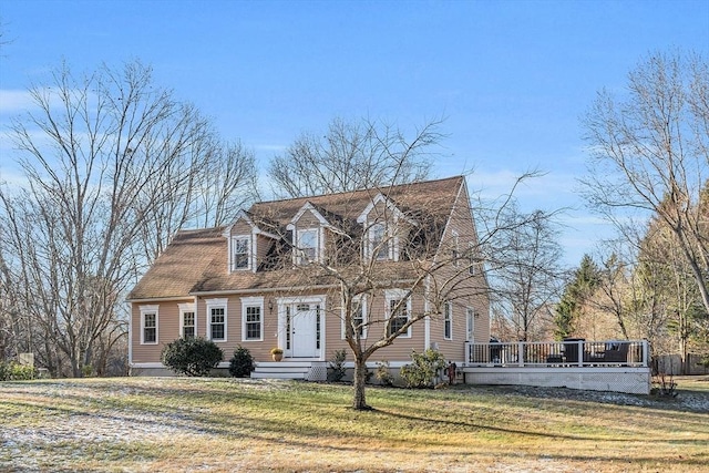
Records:
[[[222,235],[227,240],[228,273],[256,273],[271,243],[279,239],[277,235],[259,228],[245,210],[239,210]]]

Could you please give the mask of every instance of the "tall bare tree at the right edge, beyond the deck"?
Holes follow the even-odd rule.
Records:
[[[708,84],[699,54],[658,52],[629,74],[621,101],[600,92],[585,119],[592,155],[583,182],[592,207],[623,233],[631,210],[657,216],[671,230],[707,310]]]

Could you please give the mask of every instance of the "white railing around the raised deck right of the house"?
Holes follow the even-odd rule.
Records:
[[[470,367],[644,367],[647,340],[514,341],[466,343]]]

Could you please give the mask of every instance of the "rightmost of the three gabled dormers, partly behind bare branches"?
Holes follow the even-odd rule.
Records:
[[[363,227],[364,258],[398,261],[404,229],[418,226],[397,205],[379,193],[357,217]]]

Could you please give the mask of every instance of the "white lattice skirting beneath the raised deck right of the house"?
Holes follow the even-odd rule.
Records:
[[[467,384],[518,384],[649,394],[649,368],[464,368]]]

